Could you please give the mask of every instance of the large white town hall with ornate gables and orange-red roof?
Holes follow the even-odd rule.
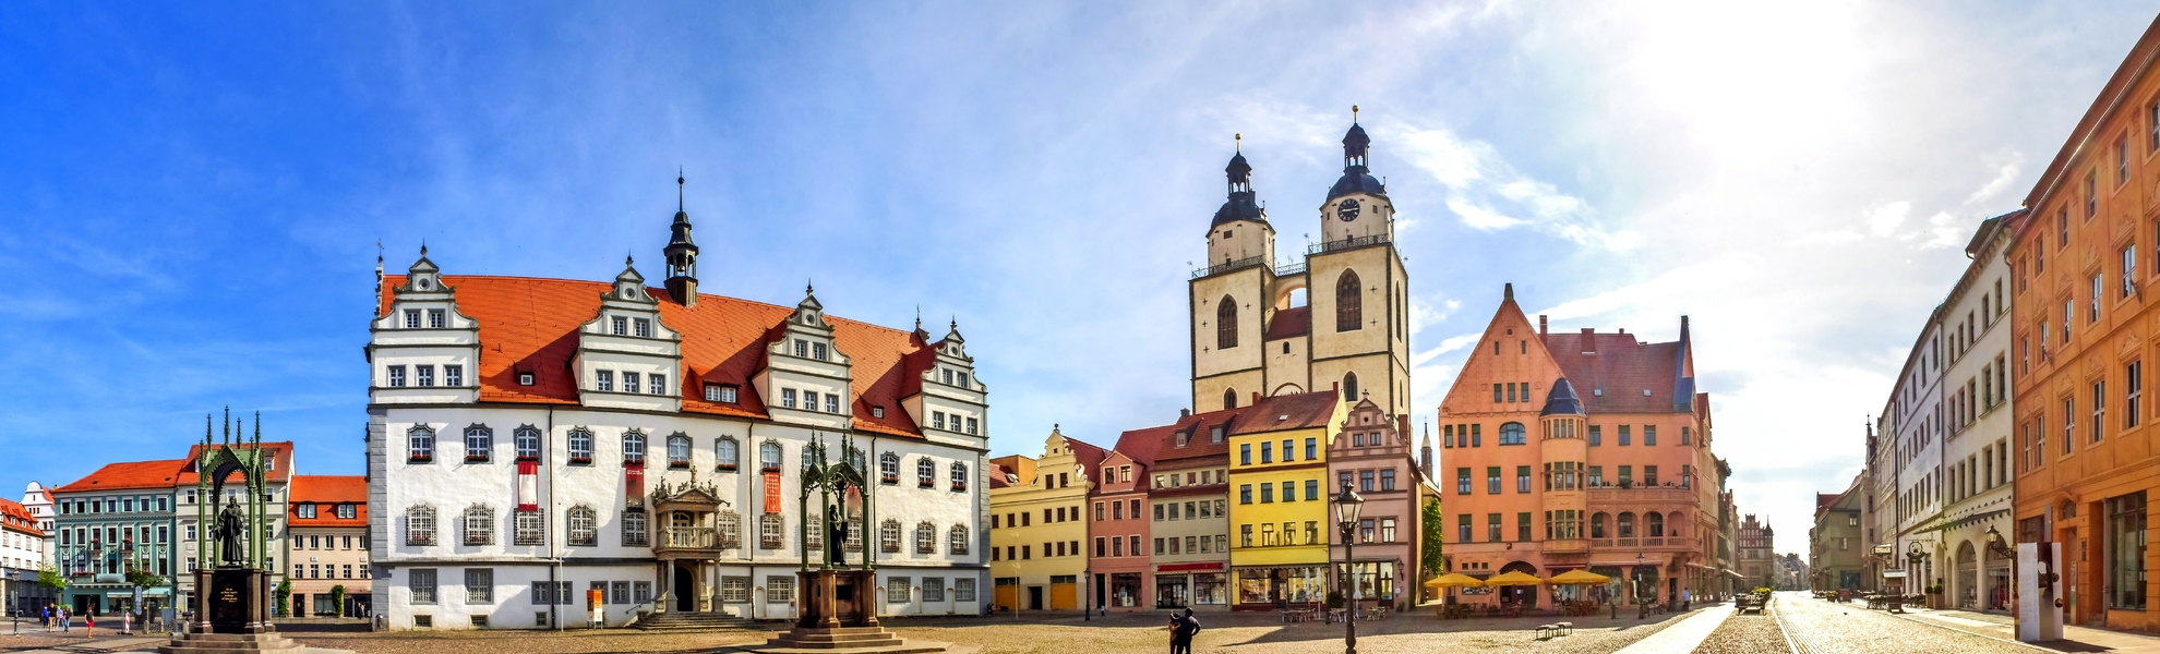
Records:
[[[987,389],[957,326],[933,341],[810,294],[700,296],[689,231],[676,212],[663,289],[629,265],[611,283],[441,274],[426,248],[380,285],[367,505],[393,628],[577,626],[590,589],[611,626],[788,617],[804,514],[823,514],[795,475],[814,438],[877,462],[879,613],[983,613]]]

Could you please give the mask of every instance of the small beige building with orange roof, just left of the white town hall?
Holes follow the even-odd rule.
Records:
[[[367,477],[294,475],[289,499],[289,615],[367,615]]]

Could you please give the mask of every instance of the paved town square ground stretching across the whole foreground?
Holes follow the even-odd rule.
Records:
[[[1609,615],[1609,613],[1607,613]],[[1765,615],[1739,615],[1732,604],[1698,607],[1678,615],[1637,619],[1622,611],[1568,617],[1575,632],[1538,639],[1536,626],[1557,617],[1432,619],[1426,613],[1359,624],[1359,652],[1698,652],[1698,654],[1827,654],[1827,652],[2160,652],[2160,639],[2071,628],[2071,641],[2041,648],[2007,641],[2009,617],[1966,611],[1914,611],[1890,615],[1862,604],[1814,600],[1808,594],[1778,594]],[[1164,611],[1024,617],[892,617],[901,637],[955,643],[953,652],[1162,652],[1169,648],[1160,622]],[[1266,613],[1201,615],[1205,630],[1194,652],[1318,654],[1341,650],[1341,624],[1281,624]],[[771,632],[639,632],[639,630],[438,630],[367,632],[359,622],[305,622],[283,628],[311,648],[382,654],[572,654],[572,652],[734,652],[765,643]],[[153,637],[99,632],[48,635],[28,630],[0,637],[0,652],[147,652]]]

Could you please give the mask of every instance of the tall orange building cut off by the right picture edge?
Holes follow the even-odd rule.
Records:
[[[2017,542],[2058,542],[2065,619],[2160,630],[2145,503],[2160,492],[2145,356],[2160,335],[2160,22],[2026,194],[2015,294]]]

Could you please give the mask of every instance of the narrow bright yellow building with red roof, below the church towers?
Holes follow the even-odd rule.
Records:
[[[1274,395],[1197,425],[1229,434],[1231,609],[1326,598],[1335,529],[1326,455],[1346,406],[1333,391]]]

